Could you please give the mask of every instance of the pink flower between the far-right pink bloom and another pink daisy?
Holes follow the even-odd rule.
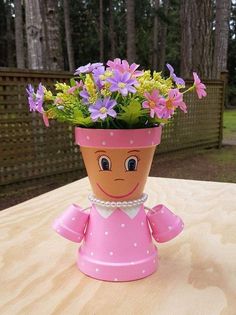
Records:
[[[187,113],[187,106],[183,101],[183,94],[180,93],[178,89],[171,89],[168,92],[168,98],[161,98],[160,104],[161,108],[158,111],[159,118],[170,118],[177,107]]]

